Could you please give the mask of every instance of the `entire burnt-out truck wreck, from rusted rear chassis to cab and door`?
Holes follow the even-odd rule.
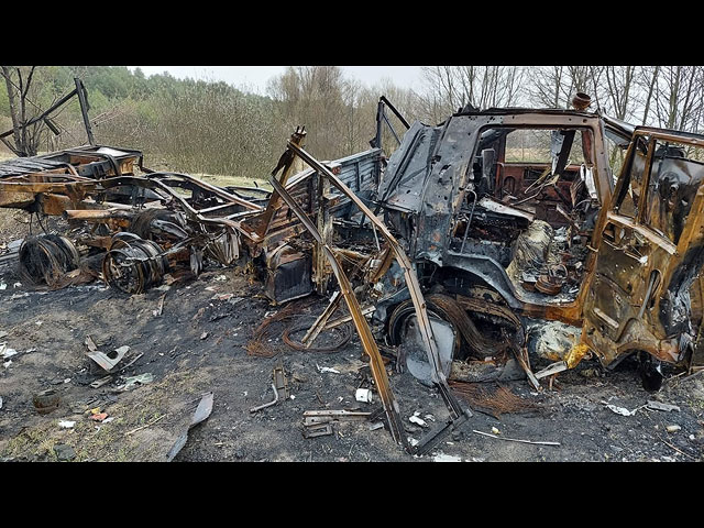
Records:
[[[437,387],[450,418],[422,452],[469,416],[448,386],[457,363],[513,359],[537,388],[590,354],[605,367],[637,354],[650,388],[662,362],[704,363],[704,136],[575,102],[468,106],[427,125],[381,98],[370,150],[321,162],[297,129],[272,191],[152,170],[139,151],[90,141],[0,164],[0,207],[69,220],[68,237],[31,237],[19,251],[24,276],[48,287],[98,277],[134,294],[216,264],[250,271],[276,305],[329,296],[297,344],[351,321],[407,448],[383,356]],[[398,143],[388,158],[384,127]],[[308,168],[295,172],[297,158]],[[534,373],[544,321],[572,340]]]

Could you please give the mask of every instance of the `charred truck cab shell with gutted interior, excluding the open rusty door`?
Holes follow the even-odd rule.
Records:
[[[437,266],[446,286],[483,284],[519,314],[574,324],[613,185],[598,116],[496,109],[414,123],[378,200],[413,258]]]

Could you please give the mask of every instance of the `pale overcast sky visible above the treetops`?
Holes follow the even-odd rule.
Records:
[[[134,69],[136,66],[129,66]],[[402,88],[420,89],[420,66],[341,66],[346,77],[372,86],[383,79],[391,79]],[[265,94],[266,81],[282,74],[286,66],[140,66],[144,75],[168,72],[174,77],[190,77],[198,80],[223,80],[238,88],[249,88],[256,94]]]

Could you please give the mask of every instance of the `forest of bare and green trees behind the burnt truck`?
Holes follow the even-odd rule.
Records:
[[[1,131],[12,128],[13,111],[16,121],[29,121],[74,89],[78,77],[98,144],[141,150],[148,167],[196,174],[265,178],[298,124],[320,160],[366,150],[382,95],[409,122],[437,124],[468,103],[570,108],[582,91],[592,97],[591,110],[634,124],[704,131],[702,66],[429,66],[420,91],[391,80],[367,87],[337,66],[292,66],[270,80],[266,96],[166,73],[146,77],[123,66],[3,66],[0,74]],[[38,152],[87,142],[77,98],[52,121],[62,133],[40,123],[33,130]],[[384,145],[393,147],[393,136]]]

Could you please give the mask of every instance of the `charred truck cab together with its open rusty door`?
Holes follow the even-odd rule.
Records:
[[[650,217],[640,209],[637,219],[669,222],[660,228],[666,234],[654,234],[644,226],[626,229],[617,212],[607,213],[615,190],[622,197],[638,193],[623,190],[623,177],[616,185],[613,161],[623,157],[627,146],[625,172],[631,166],[650,169],[652,160],[660,160],[654,153],[644,154],[642,145],[650,144],[647,132],[656,131],[639,130],[634,146],[634,130],[582,110],[468,108],[436,127],[415,122],[388,160],[375,197],[377,211],[383,210],[386,223],[407,244],[427,290],[440,289],[475,314],[482,311],[479,301],[490,311],[488,305],[498,305],[522,318],[584,323],[581,349],[595,352],[604,366],[635,350],[681,362],[688,346],[691,356],[696,341],[684,292],[697,276],[702,254],[695,242],[698,224],[688,222],[701,215],[673,213],[666,221],[664,206]],[[664,134],[656,140],[658,146],[663,141],[701,141],[673,132],[658,134]],[[664,160],[672,157],[668,156]],[[700,162],[682,160],[666,163],[666,168],[678,167],[668,178],[680,182],[680,190],[669,199],[678,202],[676,193],[686,193],[688,207],[698,211],[694,197],[700,196]],[[668,207],[682,210],[674,202]],[[603,245],[613,240],[602,237],[608,229],[636,229],[631,241],[637,238],[639,246],[653,251],[657,246],[658,254],[648,260],[638,253],[632,260],[622,250],[624,262],[612,267],[615,257],[606,256],[612,248]],[[663,237],[667,240],[660,241]],[[679,272],[656,271],[664,261],[668,270],[674,266]],[[623,292],[616,288],[619,280]],[[664,296],[662,301],[654,300],[658,295]],[[645,312],[644,302],[649,304]],[[627,317],[641,322],[628,323]],[[644,343],[646,327],[651,337]],[[685,327],[690,338],[680,337]]]

